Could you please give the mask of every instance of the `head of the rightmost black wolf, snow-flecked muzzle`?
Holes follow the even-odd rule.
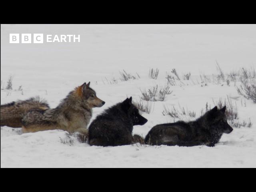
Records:
[[[211,129],[216,130],[218,133],[228,134],[231,133],[233,129],[227,122],[225,112],[226,106],[220,110],[218,110],[217,106],[215,106],[212,110],[208,111],[204,115],[204,118]]]

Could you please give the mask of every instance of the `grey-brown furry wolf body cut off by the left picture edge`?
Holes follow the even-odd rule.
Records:
[[[1,126],[22,127],[22,118],[32,109],[43,111],[49,109],[49,105],[45,100],[40,100],[39,97],[1,105]]]

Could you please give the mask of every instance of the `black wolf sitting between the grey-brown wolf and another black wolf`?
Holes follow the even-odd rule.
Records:
[[[132,136],[134,125],[144,125],[148,120],[142,117],[127,98],[96,117],[89,126],[89,143],[97,146],[119,146],[137,142],[139,136]]]

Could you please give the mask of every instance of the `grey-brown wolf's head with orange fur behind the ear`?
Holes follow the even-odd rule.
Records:
[[[88,102],[90,108],[102,107],[105,104],[104,101],[96,96],[96,92],[92,88],[90,88],[90,82],[88,84],[84,83],[80,87],[81,88],[79,94],[82,95],[83,100],[86,100]]]

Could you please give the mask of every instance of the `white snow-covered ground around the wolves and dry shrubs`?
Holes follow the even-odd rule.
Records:
[[[9,44],[10,33],[80,34],[80,43]],[[164,106],[187,108],[201,115],[206,102],[230,95],[240,121],[252,126],[234,128],[215,147],[148,146],[134,144],[98,147],[80,143],[62,130],[22,134],[20,128],[1,127],[1,167],[256,167],[256,104],[236,91],[240,82],[201,83],[200,74],[225,74],[242,67],[256,68],[256,25],[1,25],[1,104],[40,96],[56,107],[74,87],[91,82],[106,104],[93,118],[126,96],[139,101],[141,90],[167,84],[172,68],[191,72],[192,80],[170,86],[172,94],[153,102],[143,126],[173,122]],[[158,68],[157,80],[150,68]],[[120,71],[138,73],[137,80],[120,80]],[[13,90],[6,90],[12,75]],[[112,84],[113,78],[117,83]],[[22,86],[22,91],[18,90]],[[246,105],[244,105],[244,102]],[[93,119],[92,118],[92,119]],[[195,118],[184,116],[183,120]],[[177,120],[177,119],[176,119]]]

